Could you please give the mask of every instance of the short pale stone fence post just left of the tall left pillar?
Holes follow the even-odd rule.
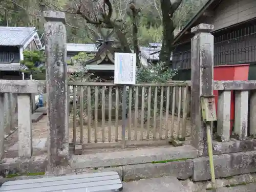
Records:
[[[18,156],[32,156],[31,103],[29,94],[18,94]]]

